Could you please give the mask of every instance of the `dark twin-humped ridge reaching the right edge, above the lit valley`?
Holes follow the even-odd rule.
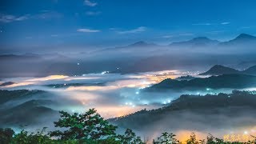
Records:
[[[205,73],[199,75],[222,75],[222,74],[250,74],[256,75],[256,66],[250,66],[248,69],[239,71],[232,69],[230,67],[222,66],[222,65],[215,65],[207,70]]]

